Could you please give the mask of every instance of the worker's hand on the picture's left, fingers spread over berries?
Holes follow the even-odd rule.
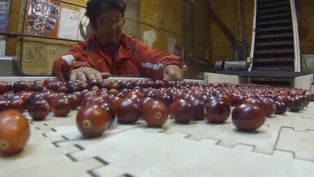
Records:
[[[103,79],[107,79],[110,76],[109,73],[100,73],[93,68],[89,67],[81,67],[78,69],[72,70],[70,74],[70,80],[96,80],[97,82],[101,83]]]

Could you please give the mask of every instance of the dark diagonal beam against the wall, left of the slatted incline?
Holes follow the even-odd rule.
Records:
[[[227,40],[234,45],[236,43],[236,38],[233,33],[228,29],[223,20],[217,15],[217,13],[208,6],[209,18],[213,19],[213,22],[219,27],[222,33],[227,37]]]

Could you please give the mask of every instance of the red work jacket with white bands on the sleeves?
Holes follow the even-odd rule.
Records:
[[[161,80],[163,69],[167,65],[177,65],[181,68],[185,66],[182,58],[169,52],[149,48],[136,38],[123,34],[120,44],[117,55],[112,58],[111,52],[99,44],[92,35],[58,58],[54,62],[52,74],[69,79],[73,69],[91,67],[112,76],[148,77]]]

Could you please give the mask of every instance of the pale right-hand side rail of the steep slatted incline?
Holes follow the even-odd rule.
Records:
[[[293,29],[293,44],[294,44],[294,71],[301,71],[301,54],[300,54],[300,41],[299,41],[299,29],[298,29],[298,18],[296,12],[296,6],[294,0],[290,0],[291,6],[291,18],[292,18],[292,29]]]

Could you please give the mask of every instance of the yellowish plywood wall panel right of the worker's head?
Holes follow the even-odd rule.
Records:
[[[141,37],[145,43],[161,50],[173,44],[182,47],[182,0],[142,0],[141,10]]]

